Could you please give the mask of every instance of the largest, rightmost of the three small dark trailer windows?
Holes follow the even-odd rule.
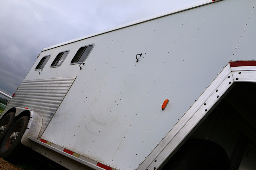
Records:
[[[93,46],[94,45],[81,47],[75,54],[74,58],[72,59],[71,64],[83,63],[88,58]]]

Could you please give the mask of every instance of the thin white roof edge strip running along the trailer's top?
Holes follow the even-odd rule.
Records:
[[[89,35],[86,35],[86,36],[83,36],[83,37],[80,37],[80,38],[76,38],[76,39],[72,39],[70,41],[66,41],[66,42],[63,42],[63,43],[60,43],[60,44],[56,44],[56,45],[44,48],[42,50],[42,52],[47,51],[49,49],[57,48],[57,47],[60,47],[60,46],[63,46],[63,45],[67,45],[67,44],[70,44],[70,43],[74,43],[74,42],[77,42],[77,41],[81,41],[81,40],[84,40],[84,39],[87,39],[87,38],[91,38],[91,37],[94,37],[94,36],[98,36],[98,35],[101,35],[101,34],[112,32],[112,31],[115,31],[115,30],[118,30],[118,29],[126,28],[126,27],[133,26],[133,25],[137,25],[137,24],[140,24],[140,23],[143,23],[143,22],[158,19],[158,18],[161,18],[161,17],[164,17],[164,16],[172,15],[172,14],[179,13],[179,12],[182,12],[182,11],[186,11],[186,10],[189,10],[189,9],[193,9],[193,8],[196,8],[196,7],[204,6],[204,5],[207,5],[207,4],[210,4],[210,3],[215,3],[215,2],[218,2],[218,1],[222,1],[222,0],[203,0],[203,1],[200,1],[200,2],[192,3],[190,5],[180,7],[180,8],[177,8],[177,9],[173,9],[173,10],[169,10],[169,11],[161,13],[161,14],[157,14],[157,15],[154,15],[154,16],[149,16],[149,17],[146,17],[146,18],[142,18],[142,19],[135,20],[135,21],[132,21],[132,22],[129,22],[129,23],[125,23],[125,24],[122,24],[122,25],[119,25],[119,26],[115,26],[115,27],[112,27],[112,28],[109,28],[109,29],[105,29],[105,30],[102,30],[102,31],[99,31],[99,32],[96,32],[96,33],[93,33],[93,34],[89,34]]]

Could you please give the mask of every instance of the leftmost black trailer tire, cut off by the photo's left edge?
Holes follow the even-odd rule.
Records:
[[[15,118],[15,113],[10,112],[10,113],[6,114],[0,121],[0,145],[1,145],[5,135],[7,134],[7,132],[13,125],[14,118]]]

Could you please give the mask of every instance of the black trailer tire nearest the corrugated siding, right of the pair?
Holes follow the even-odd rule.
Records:
[[[15,154],[18,154],[18,149],[21,147],[21,138],[26,131],[28,122],[28,116],[23,116],[13,124],[2,141],[0,147],[1,158],[8,159],[15,156]],[[18,135],[15,135],[14,133],[18,133]]]

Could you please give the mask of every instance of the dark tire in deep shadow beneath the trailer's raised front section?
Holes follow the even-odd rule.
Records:
[[[177,151],[162,170],[231,170],[231,164],[220,145],[192,139]]]

